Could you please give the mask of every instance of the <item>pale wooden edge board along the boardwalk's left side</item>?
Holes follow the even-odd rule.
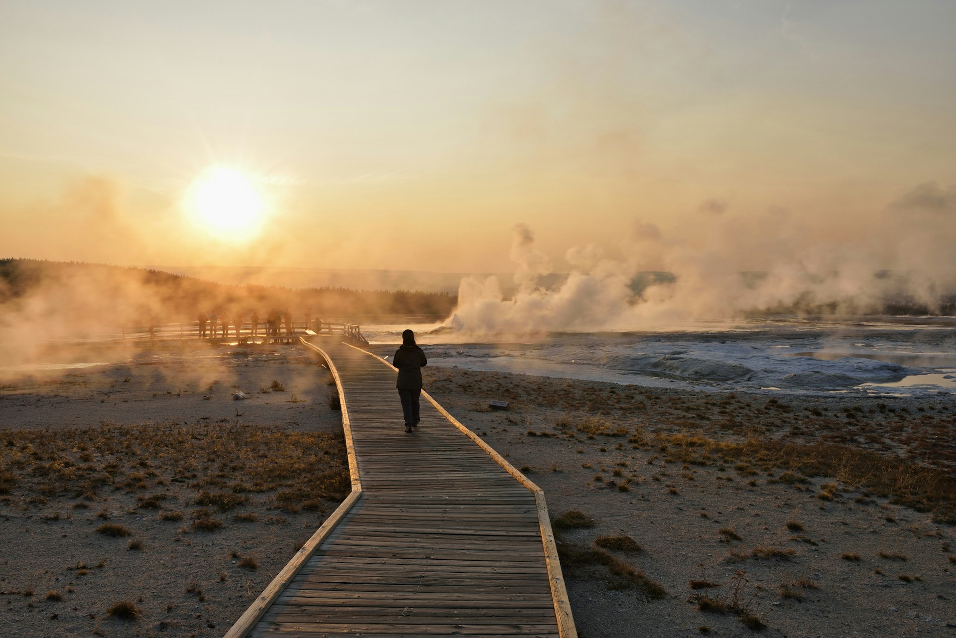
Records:
[[[302,567],[312,558],[312,555],[315,553],[315,550],[318,549],[318,546],[322,544],[322,541],[332,534],[341,519],[349,513],[352,506],[355,505],[361,497],[359,462],[356,458],[355,445],[352,441],[349,412],[345,406],[345,392],[342,389],[341,379],[338,377],[338,370],[335,364],[332,363],[332,359],[326,355],[321,348],[318,348],[304,339],[301,339],[301,341],[325,359],[325,362],[329,365],[329,371],[332,372],[332,377],[336,380],[338,401],[342,407],[342,429],[345,431],[345,449],[349,455],[349,475],[352,479],[352,492],[346,496],[345,500],[336,508],[336,511],[332,513],[332,516],[326,518],[322,525],[315,530],[315,534],[312,535],[312,538],[306,541],[299,551],[295,552],[295,556],[293,556],[292,560],[279,570],[279,573],[272,579],[272,583],[269,583],[255,602],[239,617],[235,625],[226,632],[223,638],[245,638],[245,636],[249,634],[252,628],[255,627],[255,624],[259,622],[259,619],[262,618],[263,614],[266,613],[266,610],[268,610],[272,603],[282,594],[282,591],[286,588],[286,584],[295,578],[295,575],[298,574]]]

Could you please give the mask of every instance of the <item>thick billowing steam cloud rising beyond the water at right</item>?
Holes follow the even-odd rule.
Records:
[[[956,293],[956,187],[913,188],[855,224],[797,220],[785,210],[736,217],[706,203],[703,239],[637,221],[622,254],[569,250],[556,284],[532,231],[514,228],[513,295],[497,277],[462,281],[445,325],[475,334],[646,330],[753,313],[940,313]],[[511,286],[509,287],[511,288]]]

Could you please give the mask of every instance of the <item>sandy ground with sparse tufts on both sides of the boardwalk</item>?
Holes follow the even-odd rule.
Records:
[[[698,608],[700,595],[729,601],[735,578],[739,606],[761,619],[766,635],[956,635],[950,525],[894,504],[892,494],[864,491],[850,473],[781,482],[788,473],[767,459],[684,463],[674,459],[674,439],[661,438],[837,444],[951,473],[952,398],[771,402],[766,393],[425,371],[436,399],[545,490],[553,516],[577,510],[594,518],[594,527],[564,531],[563,543],[586,548],[600,536],[626,535],[641,545],[611,554],[663,585],[662,600],[609,589],[614,579],[600,565],[565,566],[582,638],[750,635],[734,613]],[[253,483],[261,469],[255,458],[230,468],[215,442],[278,457],[255,446],[337,435],[328,378],[310,353],[278,346],[142,353],[120,365],[0,383],[2,469],[14,452],[29,463],[14,469],[7,488],[0,480],[0,533],[12,548],[0,558],[0,605],[11,635],[221,635],[336,501],[293,498],[279,486],[241,492],[248,500],[227,510],[203,506],[201,492],[235,494],[230,486]],[[285,391],[267,392],[273,381]],[[233,401],[234,389],[249,398]],[[511,405],[491,411],[491,399]],[[77,429],[101,436],[87,441]],[[189,432],[206,448],[185,463],[168,449],[180,445],[177,436],[188,445]],[[136,445],[152,448],[137,455]],[[340,462],[331,439],[292,447],[308,446],[325,465]],[[70,470],[55,465],[56,454],[75,459],[75,468],[120,467],[95,493],[73,478],[70,490],[56,490],[51,476]],[[155,509],[143,506],[163,494]],[[176,511],[181,520],[161,519]],[[223,526],[196,528],[196,512]],[[105,523],[131,536],[97,533]],[[130,549],[137,539],[139,549]],[[242,566],[250,558],[255,569]],[[692,580],[718,586],[692,590]],[[120,600],[137,605],[141,619],[108,616]]]

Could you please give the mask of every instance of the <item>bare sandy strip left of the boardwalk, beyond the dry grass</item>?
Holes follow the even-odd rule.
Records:
[[[300,347],[142,348],[129,357],[116,365],[0,379],[0,429],[236,418],[305,431],[340,429],[340,416],[328,408],[329,375]],[[259,391],[273,381],[286,391]],[[232,401],[235,390],[247,399]],[[295,403],[298,398],[305,401]]]

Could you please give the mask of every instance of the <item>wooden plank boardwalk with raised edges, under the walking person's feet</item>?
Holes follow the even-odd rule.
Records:
[[[353,492],[226,634],[576,638],[544,495],[395,368],[316,338],[342,399]]]

